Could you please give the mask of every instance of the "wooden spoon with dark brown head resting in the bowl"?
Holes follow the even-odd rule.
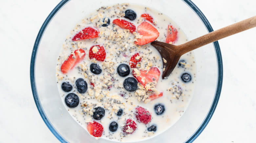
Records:
[[[162,58],[166,60],[166,61],[163,60],[163,67],[165,68],[165,70],[163,71],[162,78],[164,79],[171,74],[171,72],[174,70],[180,57],[183,54],[189,51],[192,51],[194,49],[197,49],[199,47],[202,47],[206,44],[225,38],[227,36],[253,28],[255,26],[256,26],[256,16],[253,16],[249,19],[226,26],[219,30],[212,31],[208,34],[205,34],[199,38],[188,41],[181,45],[176,46],[176,45],[172,45],[172,44],[168,44],[160,41],[151,42],[151,45],[154,46],[158,50]]]

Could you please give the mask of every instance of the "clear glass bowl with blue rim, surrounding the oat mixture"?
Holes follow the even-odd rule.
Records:
[[[125,2],[127,1],[62,0],[47,17],[36,37],[30,67],[33,97],[45,124],[61,142],[113,142],[96,140],[70,116],[60,100],[55,67],[59,47],[77,22],[101,6]],[[188,40],[213,31],[203,13],[190,0],[130,0],[129,3],[155,8],[168,15],[181,27]],[[223,79],[218,41],[194,50],[194,54],[197,62],[197,82],[193,98],[183,116],[171,128],[151,138],[152,143],[192,142],[200,135],[214,113]],[[146,143],[148,140],[140,142]]]

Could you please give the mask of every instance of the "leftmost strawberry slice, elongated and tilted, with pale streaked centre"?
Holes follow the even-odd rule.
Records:
[[[73,69],[77,63],[83,60],[85,51],[83,49],[77,49],[74,51],[74,54],[71,54],[61,65],[60,69],[62,73],[68,73],[68,71]]]

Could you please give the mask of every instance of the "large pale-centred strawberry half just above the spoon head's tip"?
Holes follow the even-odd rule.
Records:
[[[142,22],[138,26],[137,31],[139,35],[142,35],[141,38],[137,39],[137,41],[134,42],[137,45],[145,45],[147,43],[153,42],[159,36],[157,28],[155,28],[148,22]]]

